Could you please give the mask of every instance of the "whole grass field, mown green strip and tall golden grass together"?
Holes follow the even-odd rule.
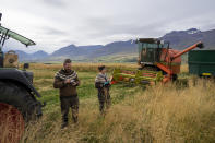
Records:
[[[58,90],[53,90],[55,73],[60,64],[31,64],[34,84],[47,106],[43,118],[25,131],[23,143],[74,142],[215,142],[215,84],[196,80],[182,67],[180,79],[188,85],[157,84],[152,87],[112,85],[111,108],[106,117],[98,111],[94,79],[98,63],[74,63],[81,79],[79,87],[79,123],[61,130]],[[135,64],[107,63],[109,74],[116,67],[136,69]],[[71,116],[71,114],[70,114]]]

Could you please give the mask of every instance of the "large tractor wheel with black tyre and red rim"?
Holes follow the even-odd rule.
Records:
[[[41,106],[24,87],[0,82],[0,142],[19,142],[24,123],[41,116]]]

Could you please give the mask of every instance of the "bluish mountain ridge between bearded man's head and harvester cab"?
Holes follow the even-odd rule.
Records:
[[[75,60],[94,59],[101,56],[110,56],[118,53],[135,52],[136,48],[131,40],[116,41],[105,46],[92,45],[92,46],[75,46],[70,45],[55,51],[50,58],[60,59],[62,57],[71,57]]]

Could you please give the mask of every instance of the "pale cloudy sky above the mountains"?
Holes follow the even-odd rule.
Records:
[[[37,43],[29,52],[215,28],[215,0],[1,0],[0,12],[3,26]]]

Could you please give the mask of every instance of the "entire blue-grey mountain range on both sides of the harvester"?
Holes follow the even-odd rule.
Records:
[[[201,32],[196,28],[188,31],[172,31],[159,37],[159,39],[170,41],[170,47],[182,50],[196,41],[203,41],[205,49],[215,50],[215,29]],[[135,60],[138,57],[138,48],[132,40],[115,41],[107,45],[89,45],[89,46],[75,46],[69,45],[62,47],[52,53],[48,55],[45,51],[37,51],[34,53],[26,53],[16,50],[20,61],[62,61],[64,58],[71,58],[76,61],[104,61],[104,60],[119,60],[124,58],[127,61]],[[108,58],[109,57],[109,58]],[[120,59],[121,60],[121,59]],[[120,61],[119,60],[119,61]]]

